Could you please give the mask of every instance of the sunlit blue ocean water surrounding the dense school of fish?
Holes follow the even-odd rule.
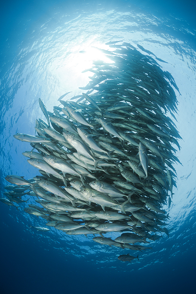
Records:
[[[139,259],[117,259],[130,250],[103,246],[92,237],[29,230],[45,226],[41,218],[23,213],[26,204],[1,209],[1,293],[193,293],[196,241],[196,22],[195,2],[185,1],[6,1],[1,3],[1,193],[9,174],[26,179],[38,174],[21,154],[28,143],[15,133],[35,135],[36,118],[45,119],[57,99],[81,94],[100,59],[91,46],[108,49],[108,41],[140,44],[175,78],[181,96],[177,129],[183,141],[175,165],[178,181],[170,207],[170,238],[151,242],[153,250]],[[90,52],[87,55],[79,51]],[[2,194],[1,197],[4,197]],[[25,198],[27,199],[27,197]],[[33,203],[33,202],[32,202]],[[134,251],[131,255],[136,256]]]

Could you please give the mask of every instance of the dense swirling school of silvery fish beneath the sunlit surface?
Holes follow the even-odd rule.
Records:
[[[86,70],[93,73],[81,88],[86,93],[69,101],[62,100],[64,94],[53,113],[39,98],[46,121],[36,119],[36,136],[14,137],[30,143],[33,149],[22,154],[41,175],[28,180],[6,176],[11,185],[0,200],[18,209],[16,204],[35,199],[37,205],[24,211],[46,219],[47,226],[142,251],[163,233],[169,237],[163,206],[170,208],[177,178],[173,164],[180,163],[173,87],[179,90],[171,74],[150,57],[152,52],[138,45],[147,56],[128,43],[116,43],[106,43],[112,51],[99,49],[110,62],[94,61]],[[113,240],[111,232],[119,236]],[[138,256],[118,257],[133,258]]]

